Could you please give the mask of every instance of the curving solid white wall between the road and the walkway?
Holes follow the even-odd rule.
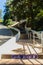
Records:
[[[12,28],[12,29],[16,30],[18,33],[14,37],[9,39],[7,42],[5,42],[3,45],[0,46],[0,59],[2,54],[7,54],[7,52],[13,49],[16,49],[16,47],[14,48],[14,45],[16,41],[18,41],[20,38],[20,31],[16,28]]]

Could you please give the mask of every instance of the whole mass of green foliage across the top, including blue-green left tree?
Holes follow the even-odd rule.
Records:
[[[43,28],[43,1],[42,0],[7,0],[5,6],[4,23],[7,19],[20,21],[27,19],[26,25],[32,29]],[[41,24],[41,26],[39,25]]]

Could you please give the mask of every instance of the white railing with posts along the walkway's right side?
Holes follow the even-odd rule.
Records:
[[[35,38],[40,39],[40,43],[42,44],[42,47],[41,47],[42,48],[42,53],[43,53],[43,31],[35,31],[35,30],[32,30],[31,28],[28,28],[26,26],[25,26],[25,30],[26,30],[26,33],[28,34],[28,38],[30,40],[31,40],[31,33],[29,33],[29,31],[32,32],[32,34],[33,34],[33,46],[36,43],[36,39]]]

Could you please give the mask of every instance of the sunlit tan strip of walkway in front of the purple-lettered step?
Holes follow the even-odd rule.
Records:
[[[2,59],[0,64],[43,65],[43,59]]]

